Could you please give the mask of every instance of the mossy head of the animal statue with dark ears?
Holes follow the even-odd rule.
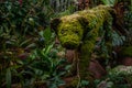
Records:
[[[51,26],[57,34],[61,44],[69,50],[74,50],[79,46],[87,24],[88,22],[86,19],[78,14],[54,19],[51,22]]]

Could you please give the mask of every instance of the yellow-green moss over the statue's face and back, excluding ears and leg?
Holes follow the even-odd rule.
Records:
[[[79,11],[75,14],[61,18],[62,22],[57,28],[57,33],[62,45],[67,48],[77,48],[81,43],[84,32],[89,32],[103,25],[106,15],[109,14],[109,7],[99,6],[92,10]],[[84,30],[82,24],[79,22],[81,16],[89,22],[89,24],[86,24],[87,30]],[[94,33],[97,34],[98,31]]]

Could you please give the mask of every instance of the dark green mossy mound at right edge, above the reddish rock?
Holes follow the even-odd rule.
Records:
[[[120,57],[132,57],[132,46],[122,47],[120,52]]]

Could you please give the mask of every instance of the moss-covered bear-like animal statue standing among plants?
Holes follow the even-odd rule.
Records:
[[[99,30],[103,29],[103,24],[112,24],[111,12],[112,9],[109,6],[98,6],[51,22],[61,44],[68,50],[79,52],[80,79],[89,79],[89,59],[99,36]]]

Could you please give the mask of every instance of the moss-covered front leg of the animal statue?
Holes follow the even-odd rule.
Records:
[[[88,72],[88,66],[91,57],[91,53],[95,48],[95,43],[97,36],[94,36],[89,38],[88,41],[85,42],[81,46],[81,55],[80,55],[80,61],[79,61],[79,74],[81,79],[89,79],[89,72]]]

